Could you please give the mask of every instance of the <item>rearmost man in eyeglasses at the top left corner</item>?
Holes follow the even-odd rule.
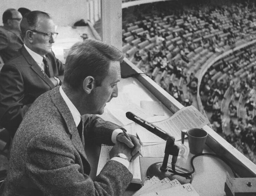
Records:
[[[20,35],[21,19],[21,13],[13,8],[7,9],[2,16],[4,26],[0,27],[0,56],[4,63],[11,59],[23,44]]]

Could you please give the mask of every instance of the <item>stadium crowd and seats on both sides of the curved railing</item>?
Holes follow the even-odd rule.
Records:
[[[127,11],[126,14],[123,13],[124,16],[130,13],[130,18],[124,17],[127,19],[126,23],[123,23],[125,32],[136,24],[138,28],[143,29],[143,33],[131,30],[132,40],[139,40],[139,43],[148,41],[145,46],[151,45],[150,47],[138,47],[134,54],[127,52],[126,55],[163,89],[187,106],[192,104],[191,94],[197,92],[198,79],[194,73],[200,69],[200,66],[211,55],[236,47],[242,41],[252,40],[256,30],[254,19],[256,9],[254,2],[240,0],[227,1],[224,6],[210,5],[209,2],[196,5],[182,1],[180,4],[175,2],[176,4],[172,6],[168,6],[168,3],[173,2],[152,3],[149,5],[152,7],[145,9],[135,6],[132,15],[129,10],[123,10]],[[147,14],[146,10],[150,10],[150,13]],[[127,36],[123,35],[123,45],[127,44],[136,46],[127,41]],[[246,71],[246,80],[241,78],[239,88],[234,78],[238,70],[255,59],[255,54],[244,49],[240,54],[232,55],[238,59],[233,62],[222,59],[222,63],[214,68],[216,72],[225,74],[225,77],[214,78],[209,70],[201,82],[202,103],[205,110],[211,113],[210,122],[218,133],[223,133],[221,100],[228,87],[234,99],[239,99],[242,95],[247,100],[247,111],[251,110],[251,105],[254,107],[251,98],[255,83],[254,66]],[[196,58],[197,56],[199,58]],[[188,87],[189,94],[183,91],[184,86]],[[229,103],[228,115],[231,119],[239,118],[238,108],[233,102]],[[247,112],[247,117],[244,117],[242,121],[246,120],[245,123],[247,123],[252,119],[255,119],[254,114]],[[232,124],[232,122],[230,124],[237,127],[242,123],[239,121],[239,125]],[[246,126],[246,130],[254,130],[254,125],[252,128],[250,125]],[[226,137],[227,141],[230,141],[230,137],[233,138],[233,133],[237,135],[234,129],[232,134]],[[252,131],[241,131],[241,133],[246,133],[249,137]],[[251,140],[254,139],[253,137],[248,139],[248,137],[243,135],[242,142],[248,140],[249,146],[252,147],[251,144],[254,142]]]

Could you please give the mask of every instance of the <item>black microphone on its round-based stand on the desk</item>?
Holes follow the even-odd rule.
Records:
[[[189,171],[176,166],[180,148],[174,144],[175,138],[131,112],[126,112],[126,117],[166,141],[164,160],[162,162],[153,163],[147,169],[147,176],[157,176],[160,180],[165,177],[168,177],[170,180],[177,179],[181,184],[191,183],[192,176],[186,174]],[[172,155],[171,164],[168,163],[169,155]],[[178,172],[175,167],[179,168],[179,170],[177,170]]]

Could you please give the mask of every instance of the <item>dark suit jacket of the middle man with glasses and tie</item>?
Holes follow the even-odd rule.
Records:
[[[50,77],[63,79],[64,66],[48,53]],[[6,63],[0,72],[0,124],[14,136],[24,113],[34,100],[54,88],[50,78],[29,55],[24,46],[18,56]]]

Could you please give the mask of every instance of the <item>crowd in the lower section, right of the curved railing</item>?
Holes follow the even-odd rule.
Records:
[[[200,86],[203,106],[208,113],[212,114],[210,123],[213,129],[221,133],[230,144],[241,149],[244,154],[251,154],[251,156],[256,151],[256,75],[254,72],[255,51],[252,49],[242,49],[238,60],[233,63],[221,59],[222,63],[217,62],[219,67],[216,66],[215,69],[222,72],[225,77],[213,81],[214,76],[209,74],[213,72],[213,69],[210,68],[202,78]],[[232,55],[235,57],[235,54]],[[242,76],[236,74],[239,71],[243,74]],[[229,91],[227,91],[228,88]],[[227,127],[224,125],[225,122],[222,122],[225,111],[221,111],[219,103],[222,102],[225,93],[229,93],[230,97],[227,112],[230,118],[230,133],[222,130]],[[241,111],[245,111],[245,115],[241,115]]]

